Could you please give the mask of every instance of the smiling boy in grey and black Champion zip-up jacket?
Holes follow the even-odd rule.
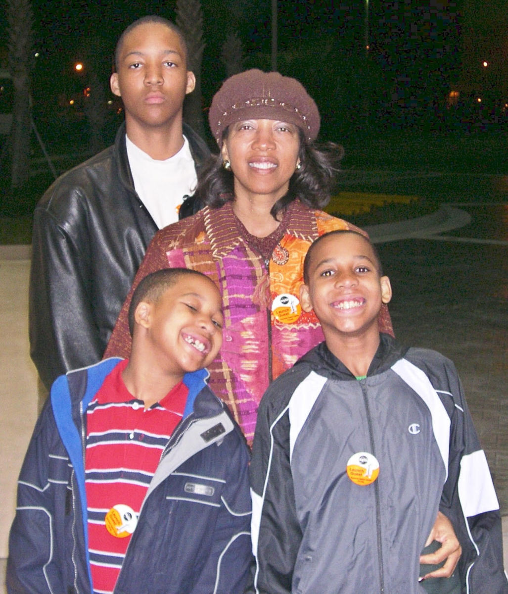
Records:
[[[325,342],[259,407],[256,592],[508,593],[499,505],[455,366],[379,333],[391,295],[363,235],[331,232],[307,252],[301,306]],[[454,577],[419,584],[438,510],[462,557]]]

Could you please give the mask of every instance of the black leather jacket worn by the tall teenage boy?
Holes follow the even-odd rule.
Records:
[[[198,168],[209,150],[184,124]],[[100,360],[157,231],[134,190],[125,124],[115,144],[64,173],[34,211],[30,355],[46,387]]]

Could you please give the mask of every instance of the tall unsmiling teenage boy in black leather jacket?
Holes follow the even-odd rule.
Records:
[[[49,388],[99,361],[147,245],[178,219],[209,151],[182,124],[195,77],[179,29],[164,18],[132,23],[110,78],[125,123],[115,144],[62,175],[34,212],[30,349]]]

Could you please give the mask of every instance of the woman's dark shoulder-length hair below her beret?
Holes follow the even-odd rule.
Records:
[[[322,147],[309,144],[299,129],[300,165],[290,178],[287,194],[272,206],[270,214],[274,219],[284,211],[293,200],[299,198],[301,203],[310,208],[323,208],[330,200],[330,192],[335,173],[344,156],[344,149],[339,144],[327,143]],[[223,143],[227,138],[224,131]],[[223,167],[221,154],[212,155],[198,173],[198,187],[193,198],[202,206],[219,208],[234,200],[234,173]]]

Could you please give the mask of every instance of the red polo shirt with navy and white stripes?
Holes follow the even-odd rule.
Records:
[[[122,380],[127,361],[107,375],[87,408],[85,489],[88,550],[93,589],[113,592],[131,536],[106,529],[106,514],[128,505],[135,516],[157,469],[161,453],[185,409],[188,389],[180,382],[163,400],[145,410]],[[123,532],[125,533],[125,531]]]

